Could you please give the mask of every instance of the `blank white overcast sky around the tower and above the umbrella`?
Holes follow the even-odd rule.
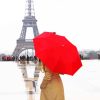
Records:
[[[14,51],[25,5],[26,0],[0,0],[0,53]],[[78,50],[100,50],[100,0],[34,0],[34,8],[40,33],[55,31]]]

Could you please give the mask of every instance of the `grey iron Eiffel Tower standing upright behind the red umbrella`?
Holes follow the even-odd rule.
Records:
[[[32,5],[32,3],[32,0],[27,0],[27,13],[24,19],[22,20],[22,31],[19,39],[17,40],[17,46],[12,54],[12,56],[14,57],[18,57],[19,54],[26,49],[33,49],[32,39],[26,39],[27,28],[31,27],[33,29],[34,37],[36,37],[39,34],[36,24],[37,20],[35,18],[34,5]]]

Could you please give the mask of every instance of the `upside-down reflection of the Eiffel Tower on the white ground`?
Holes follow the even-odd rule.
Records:
[[[26,92],[28,94],[28,100],[35,100],[33,94],[37,92],[36,82],[39,78],[40,68],[37,63],[30,61],[27,63],[27,60],[24,59],[18,63],[19,68],[21,69],[22,77],[25,82]]]

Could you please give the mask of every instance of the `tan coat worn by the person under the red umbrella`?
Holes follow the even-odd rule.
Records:
[[[52,73],[46,66],[44,66],[44,72],[45,76],[40,86],[40,100],[65,100],[60,75]]]

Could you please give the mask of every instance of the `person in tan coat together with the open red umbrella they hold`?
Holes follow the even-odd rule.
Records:
[[[43,32],[33,39],[35,56],[45,75],[40,100],[65,100],[60,74],[74,75],[82,66],[77,47],[65,36]]]

